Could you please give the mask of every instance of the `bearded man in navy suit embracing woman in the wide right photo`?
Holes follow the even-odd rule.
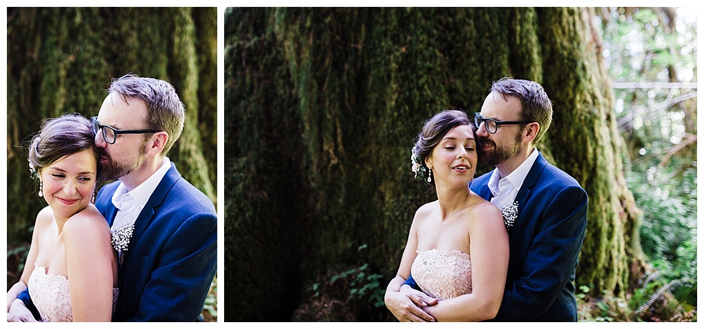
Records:
[[[494,82],[474,114],[477,152],[494,171],[470,188],[506,209],[510,257],[501,308],[493,321],[577,321],[574,271],[586,230],[587,195],[576,180],[549,164],[536,144],[550,127],[552,103],[536,82]],[[515,218],[506,216],[515,210]],[[416,288],[413,277],[406,284]],[[436,300],[407,287],[389,309],[401,321],[432,321]],[[388,304],[388,303],[387,303]]]

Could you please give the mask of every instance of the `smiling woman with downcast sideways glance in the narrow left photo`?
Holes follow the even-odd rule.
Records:
[[[28,147],[39,197],[32,245],[18,283],[8,290],[8,321],[16,299],[29,288],[42,321],[111,321],[118,266],[106,220],[93,205],[98,153],[91,123],[63,115],[42,124]]]

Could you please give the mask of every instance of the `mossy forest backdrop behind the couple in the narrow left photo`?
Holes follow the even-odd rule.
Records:
[[[46,207],[21,146],[44,118],[98,115],[113,78],[132,72],[175,86],[186,120],[168,157],[217,207],[217,29],[217,8],[7,8],[8,288]],[[218,318],[217,283],[206,321]]]

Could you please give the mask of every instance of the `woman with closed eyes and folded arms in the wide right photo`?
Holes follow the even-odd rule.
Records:
[[[413,172],[434,184],[438,200],[417,209],[401,266],[386,288],[384,301],[394,315],[406,313],[403,318],[415,321],[496,316],[508,268],[508,233],[501,210],[468,186],[477,167],[476,144],[462,110],[437,113],[418,135]],[[408,299],[413,293],[401,290],[410,289],[403,284],[410,274],[434,299]]]

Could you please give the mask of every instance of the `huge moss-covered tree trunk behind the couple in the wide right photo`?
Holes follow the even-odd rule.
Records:
[[[363,264],[383,275],[383,288],[415,209],[436,198],[410,172],[422,122],[446,108],[478,111],[505,76],[545,86],[555,115],[539,149],[589,194],[577,285],[622,295],[639,260],[637,210],[590,15],[229,8],[225,294],[249,298],[228,302],[226,320],[290,320],[319,298],[306,288],[319,292],[313,283]],[[383,307],[374,311],[356,318],[388,319]]]

